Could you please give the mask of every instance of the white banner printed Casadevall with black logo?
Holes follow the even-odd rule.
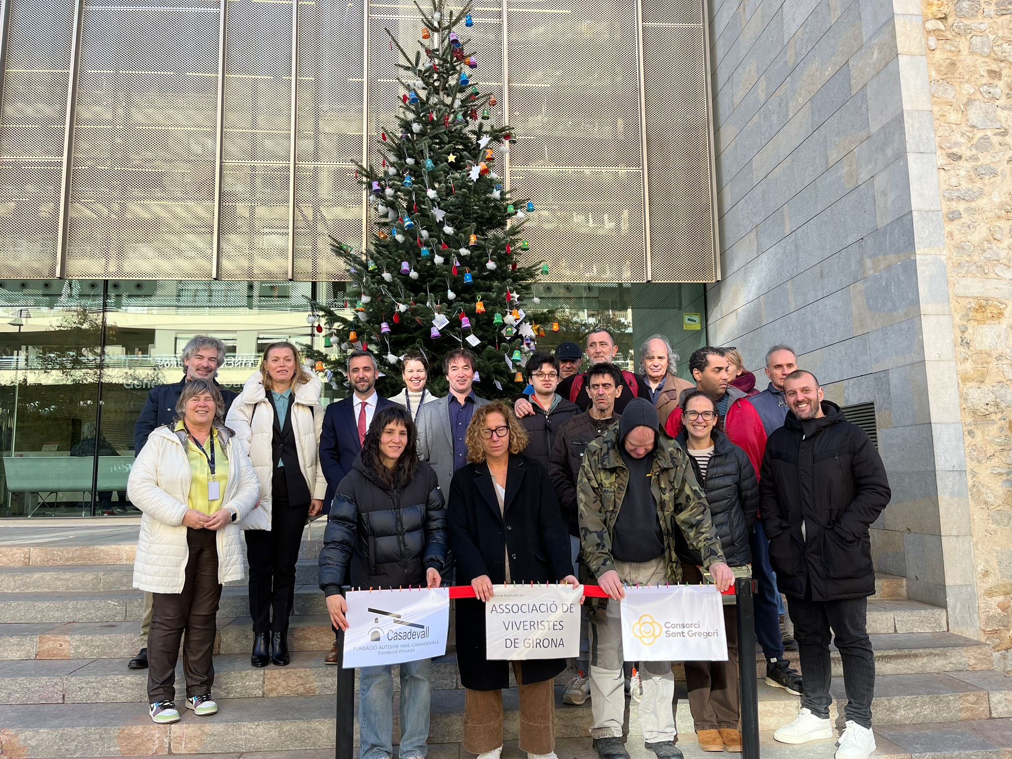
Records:
[[[431,659],[446,653],[449,590],[353,590],[344,634],[344,668]]]

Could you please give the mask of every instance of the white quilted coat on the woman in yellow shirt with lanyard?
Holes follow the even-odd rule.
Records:
[[[222,506],[235,509],[239,519],[256,505],[259,487],[242,445],[228,430],[218,428],[229,457],[229,482]],[[181,593],[186,579],[189,547],[183,514],[190,489],[190,467],[185,438],[168,426],[158,427],[134,461],[126,482],[126,495],[144,512],[141,536],[134,560],[134,587],[152,593]],[[218,581],[242,580],[242,539],[238,522],[218,530]]]

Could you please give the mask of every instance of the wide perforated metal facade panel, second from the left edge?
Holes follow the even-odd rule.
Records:
[[[67,275],[208,278],[220,6],[87,0]]]

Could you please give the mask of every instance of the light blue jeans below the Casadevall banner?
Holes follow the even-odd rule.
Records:
[[[401,757],[424,757],[429,739],[431,659],[401,665]],[[360,759],[394,755],[394,678],[390,665],[358,671]]]

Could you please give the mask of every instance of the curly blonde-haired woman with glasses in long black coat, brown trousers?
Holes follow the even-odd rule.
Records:
[[[457,584],[471,583],[476,600],[456,605],[456,657],[463,702],[463,747],[479,759],[499,759],[503,747],[502,689],[506,661],[489,661],[485,602],[493,585],[578,585],[556,492],[544,468],[521,455],[527,433],[502,401],[475,409],[468,427],[468,461],[449,490],[450,547]],[[513,662],[520,695],[520,750],[529,759],[555,759],[555,677],[564,659]]]

